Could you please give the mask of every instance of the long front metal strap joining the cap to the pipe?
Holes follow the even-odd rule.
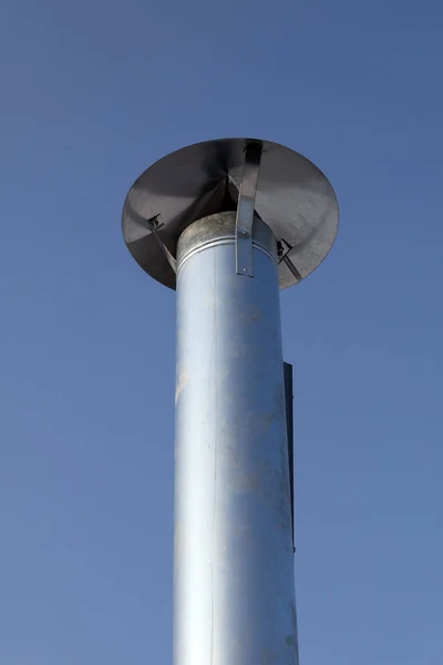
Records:
[[[258,174],[261,161],[261,142],[249,143],[245,150],[245,164],[238,194],[236,218],[236,272],[254,277],[253,224]]]

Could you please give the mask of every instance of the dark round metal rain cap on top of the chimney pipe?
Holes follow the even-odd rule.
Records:
[[[279,243],[280,288],[297,284],[322,262],[339,218],[327,177],[309,160],[277,143],[223,139],[166,155],[131,187],[123,206],[123,236],[148,275],[175,288],[175,272],[162,243],[175,257],[178,238],[189,224],[237,209],[245,150],[251,142],[261,146],[255,211]]]

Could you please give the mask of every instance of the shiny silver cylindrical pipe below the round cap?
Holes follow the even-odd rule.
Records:
[[[177,255],[174,665],[297,665],[277,244],[235,213]]]

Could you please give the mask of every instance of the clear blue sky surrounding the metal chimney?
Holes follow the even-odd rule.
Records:
[[[442,64],[439,0],[2,1],[1,665],[172,662],[175,295],[120,216],[243,135],[341,208],[281,297],[301,665],[443,663]]]

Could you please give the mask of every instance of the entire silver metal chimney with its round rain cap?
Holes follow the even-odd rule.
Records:
[[[174,665],[298,665],[279,290],[329,253],[334,192],[288,147],[207,141],[147,168],[122,225],[177,291]]]

